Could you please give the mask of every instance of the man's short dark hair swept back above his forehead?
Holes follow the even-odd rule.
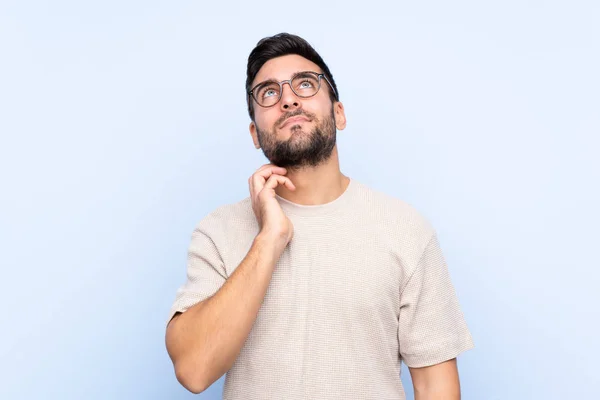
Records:
[[[254,81],[256,74],[258,74],[258,71],[267,61],[288,54],[297,54],[317,64],[327,79],[329,79],[329,82],[331,82],[331,86],[335,89],[333,92],[329,91],[331,101],[339,101],[339,94],[335,81],[333,80],[333,75],[331,75],[331,71],[329,71],[327,64],[325,64],[325,61],[323,61],[319,53],[317,53],[316,50],[300,36],[292,35],[290,33],[279,33],[261,39],[248,56],[248,67],[246,69],[246,101],[248,102],[248,114],[252,120],[254,120],[254,103],[252,101],[252,96],[248,94],[250,89],[252,89],[250,87],[252,81]]]

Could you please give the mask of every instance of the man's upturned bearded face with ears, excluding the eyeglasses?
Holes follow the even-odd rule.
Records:
[[[287,80],[302,71],[322,73],[316,64],[295,54],[274,58],[262,66],[252,87],[267,80]],[[297,96],[286,83],[274,106],[263,108],[252,100],[250,133],[255,147],[262,148],[272,164],[292,170],[325,162],[335,148],[336,128],[346,127],[342,103],[332,103],[329,97],[332,90],[321,78],[321,88],[312,97]]]

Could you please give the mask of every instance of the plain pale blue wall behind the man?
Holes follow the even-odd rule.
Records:
[[[593,397],[598,2],[368,3],[0,3],[0,398],[192,398],[165,319],[195,224],[265,162],[245,62],[280,31],[333,71],[342,170],[440,234],[463,398]]]

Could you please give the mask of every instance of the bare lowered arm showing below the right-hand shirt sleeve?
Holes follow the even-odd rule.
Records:
[[[460,400],[456,358],[423,368],[409,368],[415,400]]]

